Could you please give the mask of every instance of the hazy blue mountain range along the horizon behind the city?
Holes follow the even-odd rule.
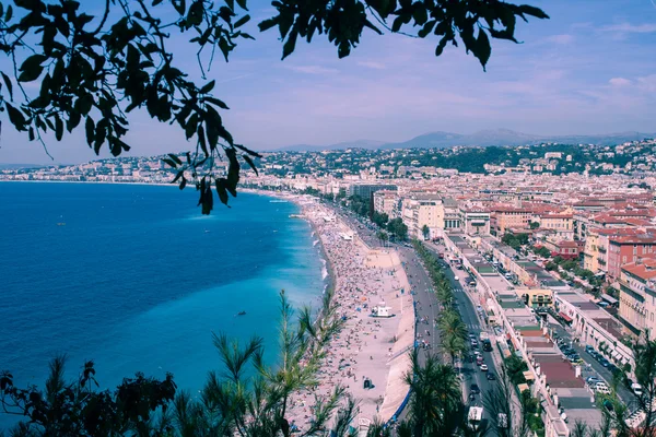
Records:
[[[639,141],[654,138],[656,133],[618,132],[597,135],[534,135],[516,132],[508,129],[481,130],[475,133],[462,134],[453,132],[431,132],[414,137],[400,143],[385,143],[373,140],[345,141],[330,145],[295,144],[278,149],[285,152],[321,152],[344,149],[446,149],[454,145],[489,146],[489,145],[523,145],[539,144],[544,142],[564,144],[598,144],[613,145],[625,141]]]

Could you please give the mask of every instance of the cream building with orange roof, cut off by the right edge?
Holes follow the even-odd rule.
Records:
[[[622,267],[620,274],[620,320],[626,332],[640,335],[649,330],[656,339],[656,259],[639,259]]]

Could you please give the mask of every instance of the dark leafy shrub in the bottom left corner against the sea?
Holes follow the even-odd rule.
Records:
[[[162,409],[175,397],[176,386],[171,374],[164,380],[137,374],[124,379],[114,391],[96,391],[92,362],[84,365],[73,382],[63,378],[65,364],[63,356],[50,362],[43,391],[36,387],[19,388],[10,373],[0,373],[1,410],[26,420],[16,426],[15,435],[120,436],[168,429],[157,416],[161,417]]]

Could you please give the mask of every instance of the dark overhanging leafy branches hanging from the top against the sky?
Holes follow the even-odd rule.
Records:
[[[462,44],[485,68],[492,52],[490,37],[517,43],[517,19],[548,19],[531,5],[501,1],[412,0],[281,0],[271,3],[277,15],[259,23],[277,27],[282,58],[298,38],[308,43],[325,35],[340,58],[360,44],[366,28],[376,34],[412,33],[434,37],[435,56],[447,44]],[[14,8],[15,5],[15,8]],[[83,130],[96,154],[108,147],[114,156],[129,151],[125,141],[128,115],[144,108],[160,122],[176,125],[196,143],[183,162],[171,154],[174,182],[191,181],[200,192],[203,214],[213,209],[214,191],[227,204],[236,196],[242,164],[256,170],[260,155],[238,144],[223,123],[226,103],[212,92],[206,71],[214,54],[225,61],[243,39],[250,15],[246,0],[14,0],[0,3],[0,52],[11,67],[0,71],[0,110],[31,141],[54,132]],[[201,83],[176,63],[172,39],[188,39],[198,55]],[[23,86],[31,83],[30,87]],[[33,84],[32,84],[33,83]],[[33,90],[37,90],[33,92]],[[20,91],[20,93],[19,93]],[[42,141],[43,142],[43,141]],[[45,144],[44,144],[45,146]],[[227,160],[227,170],[216,163]],[[257,170],[256,170],[257,172]]]

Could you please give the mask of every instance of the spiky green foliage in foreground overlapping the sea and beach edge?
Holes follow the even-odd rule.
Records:
[[[338,317],[330,292],[324,296],[324,306],[316,320],[313,311],[305,307],[294,323],[284,291],[280,294],[280,362],[277,367],[263,363],[261,339],[254,338],[241,346],[225,334],[214,335],[224,371],[221,375],[210,373],[197,413],[199,422],[209,424],[206,428],[211,430],[209,435],[290,436],[290,398],[293,393],[309,391],[318,383],[317,371],[326,346],[343,321]],[[250,376],[247,376],[248,369]],[[179,399],[176,416],[186,417],[185,412],[190,408],[197,405]],[[340,386],[328,397],[315,395],[314,420],[303,435],[323,435],[335,416],[337,435],[345,436],[355,408],[355,401],[347,397]]]

